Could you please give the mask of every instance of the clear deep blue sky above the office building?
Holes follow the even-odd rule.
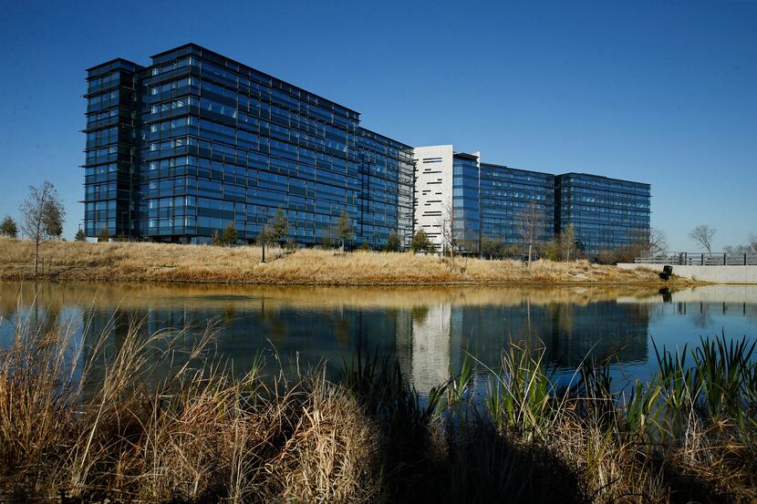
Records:
[[[83,219],[85,68],[194,42],[414,146],[652,184],[670,250],[757,232],[757,1],[0,0],[0,215],[52,181]]]

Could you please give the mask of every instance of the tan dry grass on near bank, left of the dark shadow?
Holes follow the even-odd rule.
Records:
[[[317,373],[268,389],[254,368],[208,369],[209,329],[187,359],[185,331],[140,337],[115,355],[77,345],[72,326],[28,320],[0,350],[0,500],[365,502],[378,492],[379,432]],[[104,340],[104,338],[100,338]],[[104,341],[101,341],[105,345]],[[278,387],[280,386],[280,387]]]

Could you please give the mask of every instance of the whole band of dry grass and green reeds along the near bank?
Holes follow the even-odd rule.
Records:
[[[85,330],[87,330],[85,328]],[[614,392],[607,362],[557,385],[544,351],[466,359],[423,400],[357,355],[339,383],[213,367],[208,329],[78,345],[19,322],[0,355],[0,499],[150,502],[688,502],[757,499],[746,339],[658,351]],[[107,332],[104,334],[108,334]],[[687,359],[691,359],[687,364]],[[476,369],[476,367],[479,367]]]

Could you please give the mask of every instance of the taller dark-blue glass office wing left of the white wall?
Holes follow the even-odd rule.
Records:
[[[88,69],[85,231],[207,242],[233,222],[255,240],[278,209],[289,238],[381,247],[412,230],[412,148],[359,114],[193,44],[141,67]]]

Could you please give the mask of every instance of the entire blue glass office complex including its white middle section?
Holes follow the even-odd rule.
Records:
[[[649,185],[484,163],[452,145],[411,148],[360,124],[357,111],[188,44],[149,66],[88,69],[84,229],[160,242],[210,242],[233,223],[258,239],[279,210],[288,239],[383,247],[416,229],[439,249],[484,238],[523,242],[533,203],[543,242],[573,224],[586,255],[648,237]]]

